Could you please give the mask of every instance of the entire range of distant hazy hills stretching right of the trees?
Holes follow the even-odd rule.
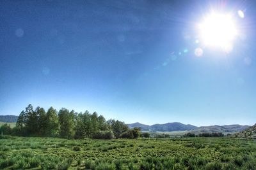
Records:
[[[172,132],[172,131],[188,131],[195,134],[200,133],[212,133],[212,132],[223,132],[234,133],[241,132],[244,129],[250,127],[248,125],[211,125],[211,126],[201,126],[196,127],[195,125],[185,125],[179,122],[167,123],[167,124],[154,124],[154,125],[144,125],[136,122],[134,124],[128,124],[130,128],[140,127],[141,131],[160,131],[160,132]]]

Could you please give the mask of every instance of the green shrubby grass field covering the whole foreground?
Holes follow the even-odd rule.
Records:
[[[0,169],[256,169],[256,143],[230,138],[0,139]]]

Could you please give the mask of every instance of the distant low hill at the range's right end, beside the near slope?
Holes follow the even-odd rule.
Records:
[[[192,133],[200,134],[200,133],[212,133],[212,132],[222,132],[224,134],[241,132],[244,129],[248,128],[248,125],[210,125],[210,126],[201,126],[193,131]]]

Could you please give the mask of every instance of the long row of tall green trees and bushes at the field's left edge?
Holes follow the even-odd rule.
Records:
[[[67,139],[113,139],[113,138],[138,138],[141,135],[140,128],[129,129],[119,120],[106,120],[96,112],[89,111],[77,113],[74,110],[61,108],[60,111],[49,108],[37,107],[35,110],[31,104],[21,111],[16,126],[4,124],[0,131],[2,134],[16,136],[41,136],[60,137]]]

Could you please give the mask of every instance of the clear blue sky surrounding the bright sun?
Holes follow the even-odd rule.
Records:
[[[31,103],[125,123],[253,125],[255,8],[255,1],[2,0],[0,115]],[[212,9],[236,20],[232,52],[197,39],[195,25]]]

